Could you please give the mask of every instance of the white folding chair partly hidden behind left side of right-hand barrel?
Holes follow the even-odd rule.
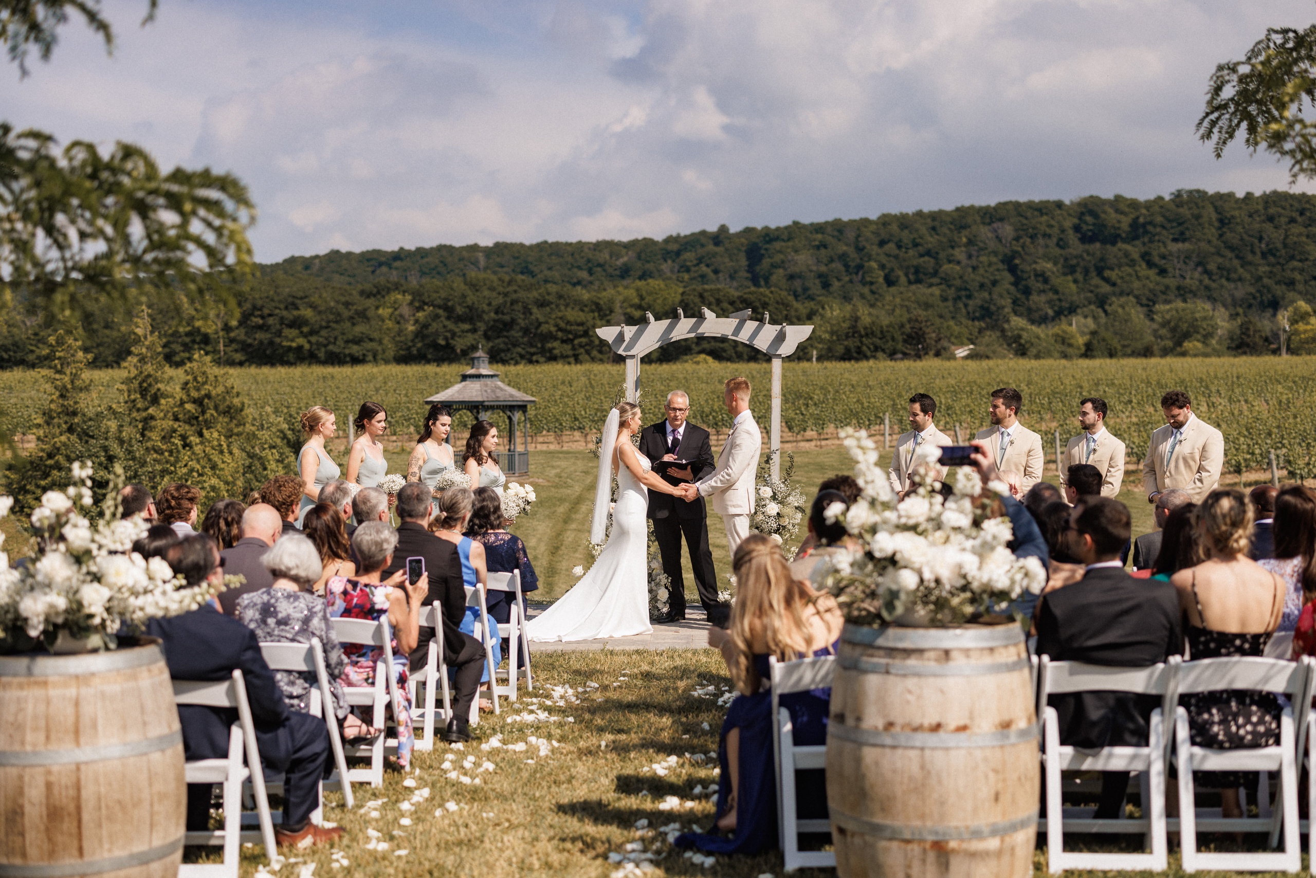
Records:
[[[796,746],[791,712],[779,704],[782,695],[807,692],[811,688],[832,686],[836,656],[801,658],[779,662],[769,657],[771,675],[772,716],[776,735],[772,736],[772,757],[776,769],[776,836],[780,839],[786,871],[796,869],[836,869],[836,852],[800,850],[800,833],[832,832],[829,820],[800,820],[795,802],[795,773],[826,767],[826,745]],[[725,782],[725,781],[724,781]]]

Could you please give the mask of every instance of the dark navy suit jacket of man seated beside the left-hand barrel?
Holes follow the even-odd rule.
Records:
[[[172,619],[153,619],[146,633],[159,637],[164,663],[174,679],[229,679],[242,671],[251,719],[255,723],[261,762],[275,771],[288,767],[292,738],[287,729],[291,716],[274,671],[261,656],[255,632],[216,611],[209,604]],[[178,708],[183,725],[183,753],[188,760],[220,760],[229,754],[229,727],[237,723],[237,710],[184,704]],[[328,735],[328,732],[326,732]]]

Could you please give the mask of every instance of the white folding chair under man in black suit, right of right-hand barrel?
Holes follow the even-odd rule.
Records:
[[[1046,783],[1046,819],[1038,829],[1046,832],[1046,860],[1051,874],[1066,869],[1166,869],[1165,766],[1169,736],[1165,717],[1174,715],[1175,679],[1182,659],[1149,667],[1111,667],[1084,662],[1053,662],[1042,656],[1037,673],[1038,716],[1042,716],[1042,762]],[[1049,695],[1075,692],[1129,692],[1159,695],[1161,707],[1148,723],[1146,746],[1107,746],[1087,753],[1061,744],[1059,719],[1046,707]],[[1138,771],[1142,819],[1096,819],[1095,808],[1066,808],[1062,771]],[[1065,850],[1066,832],[1142,835],[1150,853],[1105,853]]]

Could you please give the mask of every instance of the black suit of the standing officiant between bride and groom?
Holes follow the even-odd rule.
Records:
[[[646,426],[640,432],[640,453],[657,463],[665,454],[675,454],[678,459],[690,461],[690,471],[697,482],[712,475],[717,469],[713,449],[708,441],[708,430],[686,423],[682,426],[680,445],[675,452],[667,440],[667,421]],[[663,475],[667,484],[680,484],[682,479]],[[708,548],[708,509],[704,498],[691,502],[661,491],[649,491],[649,517],[654,521],[654,538],[662,554],[662,569],[671,578],[671,613],[676,619],[686,617],[686,579],[680,570],[680,541],[684,537],[690,546],[690,563],[695,571],[695,587],[699,590],[699,603],[708,612],[708,621],[725,624],[730,615],[717,600],[717,574],[713,570],[713,553]]]

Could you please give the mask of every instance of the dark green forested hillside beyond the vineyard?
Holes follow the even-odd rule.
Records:
[[[597,362],[594,328],[767,309],[816,324],[819,359],[1155,357],[1278,353],[1282,315],[1316,300],[1316,196],[1179,191],[1136,200],[991,207],[696,232],[662,241],[495,244],[293,257],[220,287],[211,301],[143,292],[80,320],[99,366],[122,361],[142,301],[166,355],[204,349],[226,365]],[[1287,313],[1295,353],[1316,319]],[[39,362],[58,316],[18,301],[0,366]],[[683,342],[654,354],[754,358]]]

